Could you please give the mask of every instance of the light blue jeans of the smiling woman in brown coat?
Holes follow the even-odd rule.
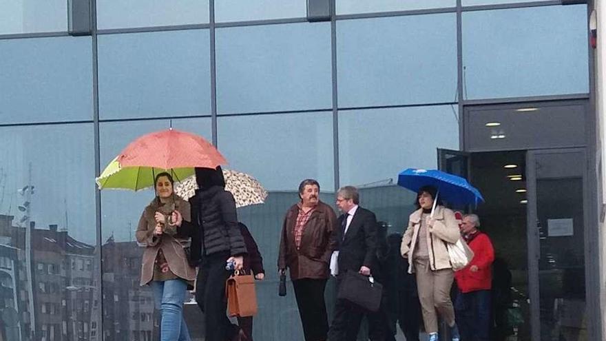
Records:
[[[183,319],[187,283],[182,280],[151,281],[156,307],[160,309],[160,341],[191,341]]]

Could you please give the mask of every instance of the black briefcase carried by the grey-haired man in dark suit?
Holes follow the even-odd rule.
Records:
[[[338,299],[348,300],[368,311],[379,310],[383,291],[380,283],[374,282],[373,277],[364,276],[355,271],[347,271],[342,276],[337,291]]]

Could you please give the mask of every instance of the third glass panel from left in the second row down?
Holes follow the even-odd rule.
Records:
[[[219,28],[218,112],[329,109],[331,25]]]

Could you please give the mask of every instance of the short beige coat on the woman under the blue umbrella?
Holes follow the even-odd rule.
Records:
[[[410,214],[408,220],[408,228],[402,236],[402,244],[400,253],[402,257],[408,258],[408,273],[412,273],[412,255],[415,254],[415,245],[419,237],[419,229],[421,228],[421,215],[423,209]],[[459,224],[454,218],[454,212],[443,206],[437,206],[434,212],[435,223],[433,227],[426,229],[427,235],[424,236],[427,240],[427,248],[429,251],[429,262],[432,270],[450,269],[450,257],[446,250],[444,242],[455,243],[461,234],[459,232]],[[423,238],[423,236],[421,236]]]

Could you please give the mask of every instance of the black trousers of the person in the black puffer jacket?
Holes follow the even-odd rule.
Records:
[[[225,281],[230,272],[225,269],[229,253],[205,256],[198,269],[196,302],[204,313],[206,341],[231,340],[239,331],[227,318]]]

